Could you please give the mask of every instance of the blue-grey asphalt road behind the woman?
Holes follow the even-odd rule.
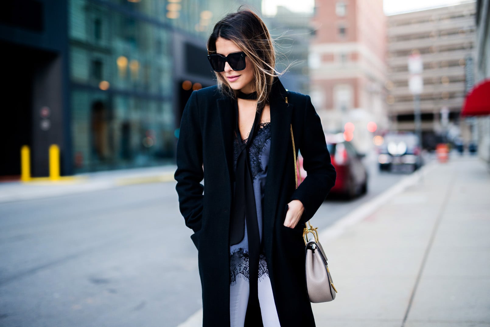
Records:
[[[327,200],[324,229],[403,174],[371,163],[368,194]],[[0,326],[177,326],[201,308],[197,251],[174,183],[0,205]]]

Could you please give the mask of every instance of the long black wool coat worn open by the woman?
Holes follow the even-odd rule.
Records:
[[[230,325],[233,101],[216,86],[194,91],[182,115],[177,143],[176,190],[185,223],[195,232],[191,238],[198,250],[205,327]],[[287,92],[276,78],[269,101],[271,143],[263,208],[264,252],[281,326],[310,327],[315,321],[306,290],[302,231],[334,186],[336,174],[310,97]],[[290,124],[296,151],[301,151],[308,173],[297,189]],[[294,199],[300,200],[305,210],[291,229],[283,223],[288,203]]]

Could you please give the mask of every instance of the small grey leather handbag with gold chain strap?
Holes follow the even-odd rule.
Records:
[[[286,98],[286,103],[287,102],[288,98]],[[296,181],[296,188],[298,188],[298,177],[301,181],[301,171],[298,167],[298,162],[296,159],[293,125],[290,125],[290,129],[294,152],[294,178]],[[313,234],[313,238],[309,239],[308,234]],[[310,302],[321,303],[332,301],[335,299],[337,289],[334,286],[332,276],[330,276],[330,271],[328,270],[327,257],[325,256],[325,252],[323,251],[323,248],[318,240],[317,228],[314,228],[309,221],[308,223],[305,223],[303,239],[306,245],[306,288],[308,290]]]

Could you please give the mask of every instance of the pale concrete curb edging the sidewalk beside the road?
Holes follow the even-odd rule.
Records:
[[[434,167],[434,163],[424,165],[422,168],[403,178],[401,181],[399,181],[383,193],[377,195],[370,201],[359,206],[357,209],[346,214],[332,226],[327,227],[325,230],[321,231],[319,233],[319,238],[323,241],[325,239],[331,240],[339,237],[347,230],[347,228],[368,217],[383,204],[387,203],[393,196],[401,193],[407,187],[416,185],[418,181],[422,180],[423,176],[427,175]],[[202,326],[202,308],[196,311],[196,313],[194,313],[185,322],[178,325],[177,327],[200,326]]]

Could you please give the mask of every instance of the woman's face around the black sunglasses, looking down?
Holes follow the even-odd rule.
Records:
[[[233,41],[221,37],[216,40],[216,52],[222,56],[226,57],[230,53],[241,51],[242,49],[233,43]],[[255,91],[252,63],[250,63],[248,57],[245,57],[244,70],[232,70],[228,62],[226,62],[224,71],[221,71],[220,74],[233,90],[240,90],[243,93],[252,93]]]

